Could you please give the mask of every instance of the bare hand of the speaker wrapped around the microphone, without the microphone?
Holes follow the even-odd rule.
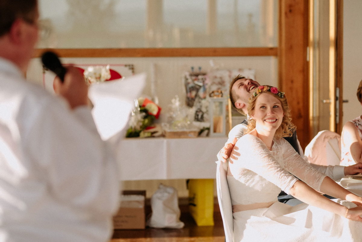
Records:
[[[73,67],[67,67],[64,82],[58,76],[54,79],[53,88],[56,94],[64,97],[72,109],[88,105],[88,85],[80,71]]]

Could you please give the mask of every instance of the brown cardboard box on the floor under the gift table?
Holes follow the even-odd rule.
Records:
[[[146,191],[123,191],[121,205],[113,217],[114,229],[145,229]]]

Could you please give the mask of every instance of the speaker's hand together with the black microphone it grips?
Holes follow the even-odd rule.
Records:
[[[88,86],[84,76],[73,66],[62,66],[58,56],[53,52],[42,55],[43,65],[54,72],[58,78],[54,79],[55,93],[64,97],[72,109],[88,105]]]

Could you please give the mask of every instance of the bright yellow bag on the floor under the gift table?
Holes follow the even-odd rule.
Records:
[[[198,226],[214,225],[214,179],[190,179],[189,210]]]

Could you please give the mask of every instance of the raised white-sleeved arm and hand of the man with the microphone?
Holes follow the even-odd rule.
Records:
[[[114,153],[102,141],[88,105],[88,86],[75,67],[67,67],[64,82],[54,80],[54,91],[67,101],[45,97],[28,120],[30,130],[22,147],[31,164],[44,170],[49,193],[60,204],[114,213],[119,201],[119,170]],[[93,216],[93,215],[92,215]]]

